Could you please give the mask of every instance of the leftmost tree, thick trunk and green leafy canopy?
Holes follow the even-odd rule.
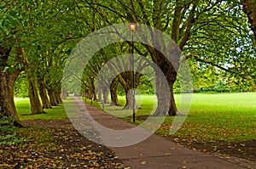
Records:
[[[0,3],[0,117],[11,116],[15,125],[20,123],[14,102],[15,79],[27,65],[38,61],[42,44],[51,46],[54,40],[60,43],[73,38],[71,32],[75,29],[68,30],[73,28],[73,20],[69,20],[69,26],[66,20],[64,23],[60,20],[68,20],[71,5],[67,2],[3,0]]]

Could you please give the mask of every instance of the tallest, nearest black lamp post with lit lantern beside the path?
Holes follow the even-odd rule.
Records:
[[[134,70],[134,43],[133,31],[136,29],[136,23],[130,24],[131,30],[131,62],[132,62],[132,122],[135,122],[135,70]]]

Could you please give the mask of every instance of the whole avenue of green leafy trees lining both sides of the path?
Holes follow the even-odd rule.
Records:
[[[172,65],[155,48],[134,43],[135,54],[158,65],[170,87],[171,100],[168,100],[161,97],[164,95],[161,82],[155,81],[158,104],[169,102],[165,103],[169,104],[168,110],[158,106],[155,115],[165,115],[166,111],[177,115],[173,87],[178,86],[176,69],[183,59],[188,59],[195,75],[196,90],[201,90],[202,83],[211,85],[211,79],[218,78],[218,81],[220,77],[225,84],[234,82],[232,85],[253,87],[255,8],[254,0],[3,0],[0,3],[0,118],[9,116],[14,119],[14,125],[19,126],[15,93],[26,95],[22,91],[27,91],[32,114],[44,113],[44,109],[60,104],[61,94],[65,97],[67,92],[80,93],[61,91],[61,76],[68,55],[91,32],[119,23],[135,22],[157,28],[170,36],[183,52]],[[126,95],[125,107],[131,109],[131,71],[116,76],[109,90],[95,80],[104,63],[129,53],[131,42],[115,43],[98,51],[80,79],[83,95],[118,105],[121,87]],[[135,74],[135,82],[135,87],[150,85],[147,77],[139,73]],[[218,83],[218,87],[223,86],[221,81]],[[216,84],[214,82],[214,86]],[[26,87],[27,90],[23,90]]]

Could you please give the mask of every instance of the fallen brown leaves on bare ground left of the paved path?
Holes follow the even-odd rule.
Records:
[[[0,145],[0,168],[127,168],[113,151],[91,142],[69,121],[23,121],[28,141]]]

